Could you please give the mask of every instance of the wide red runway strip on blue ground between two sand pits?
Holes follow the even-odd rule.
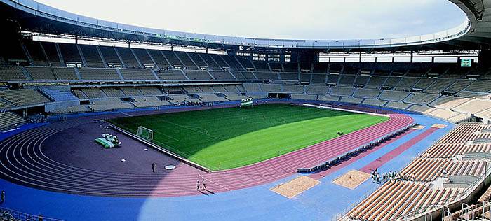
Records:
[[[389,162],[391,159],[394,159],[394,157],[401,155],[401,153],[403,153],[405,150],[408,150],[413,145],[415,145],[419,141],[422,141],[424,138],[426,138],[426,136],[430,136],[431,134],[433,134],[437,130],[438,130],[438,128],[436,128],[436,127],[431,127],[430,129],[427,129],[422,134],[419,134],[415,138],[410,139],[408,142],[404,143],[403,145],[398,146],[396,149],[391,150],[391,152],[387,152],[382,157],[375,159],[373,162],[371,162],[367,166],[364,166],[362,169],[360,169],[360,171],[365,172],[365,173],[372,173],[372,171],[375,171],[376,168],[379,168],[380,166],[386,164],[386,162]]]

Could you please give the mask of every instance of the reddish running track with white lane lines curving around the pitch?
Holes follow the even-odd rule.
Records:
[[[386,122],[250,166],[205,173],[180,164],[175,171],[162,175],[81,169],[43,155],[41,145],[46,138],[56,136],[59,131],[90,123],[87,119],[69,120],[31,129],[0,143],[0,177],[42,190],[106,197],[196,195],[201,194],[196,191],[196,180],[203,178],[213,192],[238,190],[286,178],[294,174],[297,168],[325,162],[414,121],[403,114],[388,115],[390,119]],[[186,169],[180,169],[182,167]]]

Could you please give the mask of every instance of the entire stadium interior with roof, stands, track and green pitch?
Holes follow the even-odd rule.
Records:
[[[0,219],[491,220],[491,1],[450,3],[295,40],[0,0]]]

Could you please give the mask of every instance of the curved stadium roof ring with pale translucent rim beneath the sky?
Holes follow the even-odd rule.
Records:
[[[241,38],[149,29],[76,15],[32,0],[0,0],[0,12],[5,18],[17,20],[22,30],[26,31],[123,41],[195,45],[224,50],[238,48],[320,51],[478,50],[483,48],[483,45],[489,48],[491,45],[491,0],[450,1],[459,6],[467,15],[466,21],[453,29],[407,38],[337,41]]]

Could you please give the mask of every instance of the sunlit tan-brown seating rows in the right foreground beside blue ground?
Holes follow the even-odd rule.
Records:
[[[467,197],[468,185],[456,185],[458,178],[482,176],[488,159],[455,158],[469,153],[489,152],[487,144],[466,145],[477,140],[477,131],[489,128],[480,123],[459,124],[438,143],[401,170],[407,180],[391,180],[347,213],[353,220],[391,220],[411,217],[431,209],[433,205],[447,205]],[[464,138],[465,137],[465,138]],[[445,171],[445,172],[443,172]],[[453,183],[449,180],[454,180]],[[464,181],[466,182],[466,181]],[[443,185],[442,185],[443,183]],[[471,182],[472,183],[472,182]]]

